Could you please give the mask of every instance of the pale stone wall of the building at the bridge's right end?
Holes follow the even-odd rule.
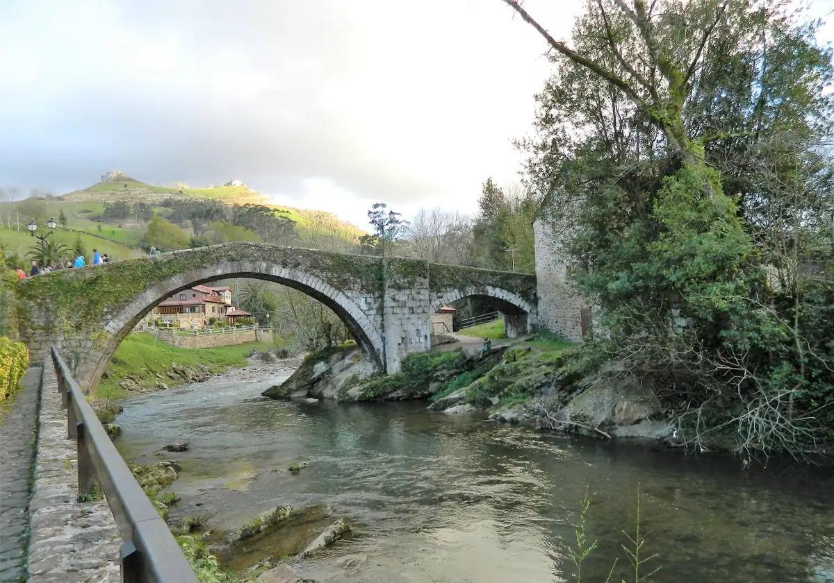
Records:
[[[588,308],[568,281],[567,258],[559,237],[541,218],[533,222],[533,237],[539,325],[566,340],[580,341],[582,311]],[[590,331],[588,328],[585,326],[586,332]]]

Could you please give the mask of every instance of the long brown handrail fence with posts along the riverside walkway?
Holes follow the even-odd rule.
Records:
[[[128,583],[197,583],[197,577],[168,525],[113,446],[93,407],[53,346],[58,391],[67,410],[67,432],[78,444],[78,493],[90,494],[98,483],[122,536],[122,581]]]

